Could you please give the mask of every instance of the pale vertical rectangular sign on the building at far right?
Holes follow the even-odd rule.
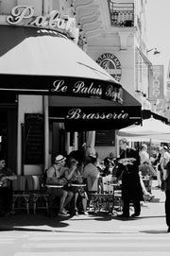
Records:
[[[149,70],[149,100],[163,98],[163,65],[153,65]]]

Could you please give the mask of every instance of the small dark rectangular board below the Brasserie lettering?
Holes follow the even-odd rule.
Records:
[[[115,145],[114,130],[96,130],[95,145]]]

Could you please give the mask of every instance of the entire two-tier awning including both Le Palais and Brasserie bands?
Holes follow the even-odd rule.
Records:
[[[47,94],[49,116],[69,130],[139,124],[141,104],[57,31],[0,26],[0,91]]]

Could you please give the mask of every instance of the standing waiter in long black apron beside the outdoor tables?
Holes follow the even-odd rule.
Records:
[[[118,159],[118,170],[116,177],[122,179],[122,217],[129,217],[129,203],[132,201],[134,213],[132,217],[141,213],[140,201],[143,199],[143,192],[139,177],[140,156],[134,148],[129,148],[127,139],[120,140],[121,154]]]

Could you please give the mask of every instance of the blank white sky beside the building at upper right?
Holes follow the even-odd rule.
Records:
[[[147,0],[146,4],[147,49],[158,48],[159,55],[148,54],[152,64],[164,65],[164,82],[170,60],[170,0]]]

